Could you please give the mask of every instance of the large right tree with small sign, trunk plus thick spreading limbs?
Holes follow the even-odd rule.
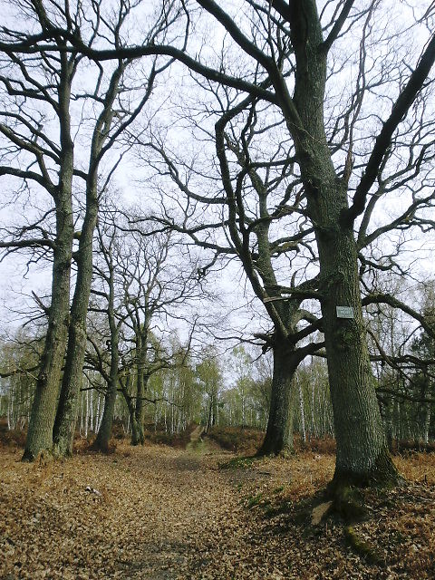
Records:
[[[333,166],[333,144],[330,150],[326,138],[324,101],[328,53],[337,38],[349,31],[356,22],[357,16],[353,14],[356,5],[354,6],[353,0],[346,0],[337,9],[333,21],[329,23],[331,25],[326,27],[325,38],[315,0],[292,0],[288,3],[279,0],[268,5],[259,3],[253,6],[255,17],[260,20],[264,12],[268,14],[270,10],[273,14],[273,18],[268,20],[270,36],[261,46],[256,43],[256,38],[251,38],[242,31],[234,18],[214,0],[197,0],[197,3],[227,29],[227,33],[241,50],[265,72],[266,80],[261,85],[249,84],[216,70],[211,74],[209,69],[198,62],[188,62],[188,65],[208,79],[212,78],[215,82],[247,91],[251,98],[255,96],[272,102],[282,112],[295,146],[295,162],[300,169],[307,200],[307,215],[314,227],[319,252],[321,279],[318,298],[322,303],[337,438],[334,479],[394,482],[398,475],[383,434],[362,324],[362,301],[357,275],[358,252],[353,225],[355,219],[366,210],[370,189],[382,171],[382,163],[388,160],[394,131],[427,82],[435,62],[435,35],[430,37],[414,71],[410,73],[408,82],[401,83],[401,92],[393,103],[390,116],[382,123],[376,139],[369,143],[372,150],[362,169],[362,176],[357,177],[359,182],[352,195],[352,204],[349,205],[348,183],[353,173],[353,134],[345,138],[349,150],[344,170],[339,176]],[[375,8],[376,3],[371,3],[367,12],[367,24],[372,24],[370,19],[375,17],[372,16]],[[351,13],[353,20],[349,19]],[[274,23],[279,24],[275,26]],[[288,35],[286,25],[289,27]],[[362,28],[366,30],[365,26]],[[288,36],[285,42],[282,40],[283,35]],[[362,46],[364,37],[361,42]],[[284,49],[280,51],[279,46]],[[186,62],[184,54],[179,58]],[[362,62],[361,72],[364,66],[365,63]],[[265,87],[272,87],[273,92],[264,91]],[[294,90],[293,96],[290,94],[291,87]],[[358,87],[348,111],[349,117],[343,117],[343,131],[346,133],[349,119],[358,118],[360,91],[361,87]],[[241,106],[246,104],[241,103]],[[335,129],[340,121],[336,120]],[[217,140],[219,160],[223,156],[223,141]],[[231,218],[233,205],[233,213],[238,219],[236,203],[233,201],[236,196],[227,185],[230,181],[227,163],[221,161],[221,166],[225,169],[224,187],[229,194],[228,213]],[[370,220],[370,213],[368,209],[364,219]],[[243,250],[243,247],[240,249]],[[238,247],[237,253],[241,255]],[[247,274],[249,276],[249,272]],[[336,306],[352,307],[353,319],[338,319]]]

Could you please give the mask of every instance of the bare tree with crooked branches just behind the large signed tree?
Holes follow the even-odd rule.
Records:
[[[215,148],[212,161],[204,162],[204,167],[193,160],[177,159],[156,135],[147,143],[137,141],[142,149],[158,154],[156,159],[141,151],[156,169],[156,179],[162,177],[161,205],[165,211],[154,219],[213,252],[204,272],[219,258],[236,256],[273,324],[272,331],[256,333],[264,350],[271,349],[274,355],[266,437],[259,453],[278,454],[293,449],[291,387],[295,370],[305,356],[324,346],[322,341],[307,343],[321,320],[302,306],[317,295],[314,228],[308,223],[295,160],[283,144],[283,123],[273,115],[263,121],[265,106],[251,97],[233,107],[234,93],[213,88],[208,92],[220,105],[220,111],[213,111],[214,127],[207,129],[209,103],[200,117],[198,108],[196,115],[189,117],[190,124],[200,128],[201,145],[208,139]],[[187,118],[184,115],[183,122]],[[197,160],[198,153],[192,157]],[[177,208],[182,210],[178,212],[171,208],[174,203],[167,193],[168,175],[179,189]],[[211,179],[215,187],[206,193]],[[306,277],[310,270],[312,277]],[[286,285],[289,273],[291,286]]]

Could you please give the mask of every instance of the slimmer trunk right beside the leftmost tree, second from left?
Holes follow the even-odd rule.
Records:
[[[71,321],[68,330],[68,350],[59,406],[53,428],[53,446],[57,455],[71,455],[77,420],[79,393],[82,387],[82,371],[86,348],[86,314],[92,283],[92,237],[97,221],[96,198],[88,200],[86,216],[77,260],[77,282],[75,285]]]

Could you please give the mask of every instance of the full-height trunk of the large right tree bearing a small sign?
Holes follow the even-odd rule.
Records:
[[[382,429],[362,321],[353,225],[342,219],[348,208],[347,181],[336,175],[324,131],[327,54],[316,4],[292,2],[290,24],[296,61],[293,98],[279,73],[274,73],[273,82],[295,141],[319,250],[319,291],[337,441],[333,479],[336,484],[394,481],[398,476]],[[353,307],[353,318],[338,318],[337,306]]]

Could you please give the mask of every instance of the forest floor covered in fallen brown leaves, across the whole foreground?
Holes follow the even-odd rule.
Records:
[[[198,432],[186,450],[21,454],[0,445],[2,580],[435,578],[433,453],[397,457],[406,486],[365,493],[352,527],[312,523],[332,455],[237,459]]]

